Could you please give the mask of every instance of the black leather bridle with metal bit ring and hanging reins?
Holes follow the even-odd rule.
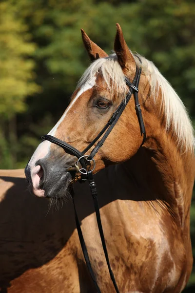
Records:
[[[144,122],[143,122],[143,117],[141,114],[141,107],[139,105],[139,101],[138,101],[138,85],[139,85],[139,80],[140,80],[140,75],[141,75],[141,68],[136,69],[136,76],[134,79],[133,84],[130,83],[129,79],[127,77],[125,77],[125,82],[129,87],[129,91],[124,99],[124,101],[122,101],[120,103],[120,105],[118,106],[117,110],[113,113],[112,117],[110,118],[110,120],[108,121],[108,123],[103,127],[103,129],[99,132],[99,134],[96,136],[96,138],[82,151],[80,152],[78,149],[76,149],[75,147],[67,144],[66,142],[52,136],[52,135],[44,135],[42,136],[42,140],[48,140],[51,143],[54,143],[58,146],[61,146],[66,152],[70,153],[73,156],[76,156],[78,158],[77,163],[75,164],[75,170],[77,172],[81,173],[81,179],[80,180],[88,180],[89,182],[89,186],[91,189],[91,194],[93,197],[93,201],[94,201],[94,208],[95,208],[95,212],[96,212],[96,218],[97,218],[97,223],[98,223],[98,230],[99,230],[99,234],[101,237],[101,243],[102,243],[102,247],[104,250],[104,254],[105,254],[105,258],[106,258],[106,262],[107,262],[107,266],[108,266],[108,270],[110,273],[110,277],[112,279],[113,285],[115,287],[115,290],[117,293],[119,293],[118,287],[117,287],[117,283],[114,277],[114,274],[111,270],[110,267],[110,261],[109,261],[109,257],[108,257],[108,252],[106,249],[106,243],[105,243],[105,238],[104,238],[104,234],[103,234],[103,229],[102,229],[102,224],[101,224],[101,218],[100,218],[100,213],[99,213],[99,206],[98,206],[98,193],[97,193],[97,188],[96,188],[96,183],[94,182],[94,178],[92,175],[93,170],[95,169],[95,160],[94,157],[97,154],[99,148],[101,146],[103,146],[103,143],[105,142],[106,138],[108,137],[108,135],[110,134],[110,132],[112,131],[113,127],[116,125],[118,119],[120,118],[122,112],[124,111],[126,105],[128,104],[129,100],[131,99],[132,94],[134,94],[134,100],[135,100],[135,109],[136,109],[136,113],[137,113],[137,119],[139,122],[139,127],[140,127],[140,132],[141,135],[143,134],[143,141],[141,146],[144,144],[145,140],[146,140],[146,131],[145,131],[145,126],[144,126]],[[103,136],[102,136],[103,135]],[[102,138],[98,141],[98,139],[102,136]],[[94,149],[91,151],[90,155],[85,155],[85,153],[92,147],[95,145],[95,143],[98,141],[97,145],[94,147]],[[93,161],[93,169],[89,169],[91,167],[91,162]],[[81,168],[78,167],[78,163],[81,164]],[[79,240],[80,240],[80,245],[82,248],[82,252],[87,264],[87,268],[90,272],[90,275],[93,279],[94,285],[97,289],[98,293],[101,293],[99,287],[98,287],[98,283],[96,281],[96,277],[95,274],[92,270],[91,267],[91,263],[89,260],[89,255],[87,252],[87,248],[84,242],[84,238],[82,235],[82,231],[80,228],[80,224],[79,224],[79,220],[78,220],[78,215],[77,215],[77,211],[76,211],[76,207],[75,207],[75,201],[74,201],[74,189],[72,187],[72,185],[70,186],[70,191],[73,197],[73,203],[74,203],[74,210],[75,210],[75,220],[76,220],[76,225],[77,225],[77,230],[78,230],[78,236],[79,236]]]

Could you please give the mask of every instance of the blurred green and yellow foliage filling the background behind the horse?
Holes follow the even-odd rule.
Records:
[[[116,22],[129,47],[156,64],[195,120],[194,0],[1,1],[0,168],[25,167],[39,136],[66,108],[89,65],[80,28],[110,53]],[[195,245],[194,205],[192,240]]]

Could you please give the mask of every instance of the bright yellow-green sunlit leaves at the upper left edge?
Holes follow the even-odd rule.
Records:
[[[9,0],[0,2],[0,115],[5,117],[24,111],[25,98],[39,90],[33,82],[35,63],[29,59],[36,45],[30,39],[17,7]]]

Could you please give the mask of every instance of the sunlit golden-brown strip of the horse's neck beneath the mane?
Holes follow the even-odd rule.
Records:
[[[180,194],[184,201],[187,197],[191,199],[195,177],[194,152],[179,149],[174,127],[170,125],[169,131],[166,129],[166,114],[162,105],[165,101],[162,99],[161,89],[155,98],[151,96],[151,86],[146,77],[140,84],[139,99],[142,102],[147,135],[144,148],[153,162],[152,169],[160,174],[166,189],[165,200],[171,205],[172,198],[176,198],[176,194]],[[178,115],[185,115],[185,113],[181,111]]]

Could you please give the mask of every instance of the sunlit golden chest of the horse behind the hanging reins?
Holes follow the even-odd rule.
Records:
[[[173,231],[173,234],[177,232],[178,235],[170,239],[157,213],[147,219],[143,215],[141,217],[139,211],[136,215],[128,213],[125,216],[128,207],[122,207],[121,214],[118,207],[116,210],[116,203],[112,205],[112,213],[108,212],[108,207],[104,207],[101,209],[101,217],[111,267],[121,292],[163,292],[168,288],[173,291],[185,268],[186,255],[180,233]],[[173,225],[173,230],[176,229],[174,224],[169,225]],[[93,269],[99,284],[104,288],[102,292],[114,292],[96,226],[93,214],[82,221]],[[179,256],[174,252],[176,247],[181,252]],[[81,251],[78,258],[82,258]]]

